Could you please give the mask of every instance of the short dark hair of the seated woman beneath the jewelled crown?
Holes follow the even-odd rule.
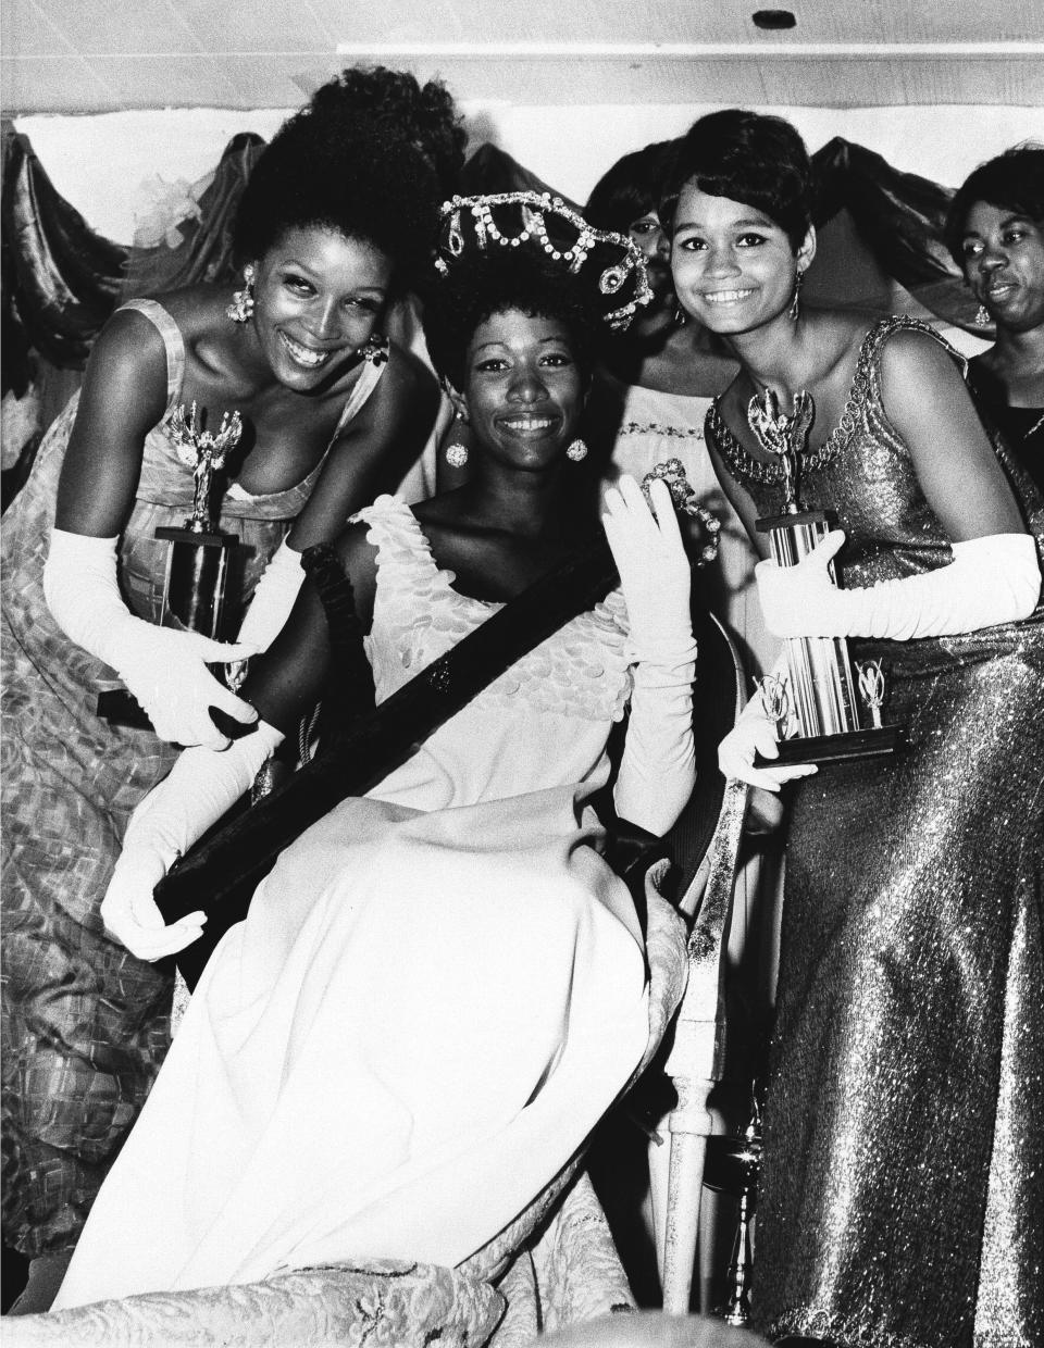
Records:
[[[468,344],[477,328],[517,309],[531,318],[556,318],[572,340],[573,356],[584,379],[595,361],[602,326],[588,287],[564,267],[556,267],[522,248],[475,252],[453,263],[448,276],[425,290],[424,332],[436,371],[463,391]]]

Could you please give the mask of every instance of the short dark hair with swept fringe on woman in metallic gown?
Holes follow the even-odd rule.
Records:
[[[727,108],[700,117],[677,150],[660,218],[673,232],[681,189],[695,182],[708,197],[728,197],[763,212],[794,252],[812,224],[812,160],[800,133],[782,117]]]

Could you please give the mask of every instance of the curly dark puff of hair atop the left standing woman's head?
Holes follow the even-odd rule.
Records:
[[[451,197],[459,190],[468,133],[452,94],[440,80],[419,85],[409,70],[349,66],[312,96],[313,112],[345,108],[366,113],[421,151]]]

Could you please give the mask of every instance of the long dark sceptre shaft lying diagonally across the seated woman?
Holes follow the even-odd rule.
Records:
[[[308,555],[308,554],[305,554]],[[299,771],[197,844],[155,890],[167,922],[202,909],[204,936],[178,956],[194,987],[210,952],[245,917],[254,890],[305,829],[349,795],[364,795],[406,762],[440,725],[564,623],[604,599],[616,581],[604,535],[504,604],[368,716],[340,732]]]

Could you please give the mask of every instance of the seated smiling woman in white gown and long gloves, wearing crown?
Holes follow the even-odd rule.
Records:
[[[413,510],[380,497],[339,543],[378,701],[585,538],[568,449],[593,279],[480,253],[429,306],[473,474]],[[57,1309],[375,1254],[457,1266],[580,1146],[649,1039],[642,933],[591,809],[629,697],[619,814],[664,832],[693,783],[689,568],[662,484],[653,501],[625,480],[607,503],[623,593],[283,852],[206,967]],[[328,651],[308,584],[244,685],[259,728],[187,749],[136,813],[104,905],[132,949],[198,934],[198,914],[162,926],[152,887],[324,690]]]

